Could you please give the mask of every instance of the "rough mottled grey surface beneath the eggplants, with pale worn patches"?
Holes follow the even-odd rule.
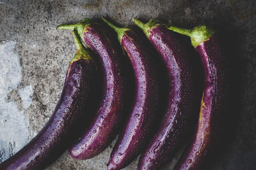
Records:
[[[159,18],[173,25],[215,26],[231,33],[239,57],[241,85],[234,137],[211,169],[256,168],[255,1],[8,1],[0,0],[0,161],[29,142],[51,116],[60,96],[68,61],[76,52],[71,31],[56,26],[82,18],[108,16],[117,24]],[[236,60],[236,59],[235,59]],[[241,105],[241,106],[240,106]],[[237,113],[235,113],[237,112]],[[90,160],[65,152],[47,169],[106,169],[114,143]],[[136,169],[136,162],[125,169]],[[168,166],[165,169],[170,169]]]

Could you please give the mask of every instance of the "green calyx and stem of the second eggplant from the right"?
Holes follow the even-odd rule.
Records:
[[[147,36],[147,38],[149,36],[149,31],[151,29],[153,29],[157,25],[164,25],[161,21],[154,20],[154,19],[149,20],[149,22],[147,24],[144,24],[143,22],[141,22],[140,20],[137,20],[136,18],[132,18],[132,22],[135,25],[137,25],[140,29],[142,29],[142,31]]]

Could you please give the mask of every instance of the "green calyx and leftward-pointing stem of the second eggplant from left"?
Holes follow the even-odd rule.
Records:
[[[92,24],[97,24],[97,23],[95,23],[95,21],[90,20],[88,18],[84,18],[83,20],[81,20],[81,22],[78,22],[77,24],[61,24],[61,25],[58,25],[56,29],[74,30],[76,28],[81,41],[83,41],[83,43],[86,44],[84,42],[83,32],[84,32],[84,29],[86,29],[88,26]]]

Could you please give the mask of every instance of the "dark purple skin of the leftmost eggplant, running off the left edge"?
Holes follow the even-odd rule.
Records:
[[[1,170],[44,169],[60,157],[74,142],[77,123],[87,115],[94,73],[92,60],[72,62],[52,117],[24,148],[0,164]]]

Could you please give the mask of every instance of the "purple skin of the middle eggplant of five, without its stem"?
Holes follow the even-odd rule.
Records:
[[[122,46],[127,52],[136,79],[136,97],[129,120],[111,152],[108,170],[122,169],[132,162],[147,144],[156,117],[158,80],[152,52],[136,32],[125,31]]]

